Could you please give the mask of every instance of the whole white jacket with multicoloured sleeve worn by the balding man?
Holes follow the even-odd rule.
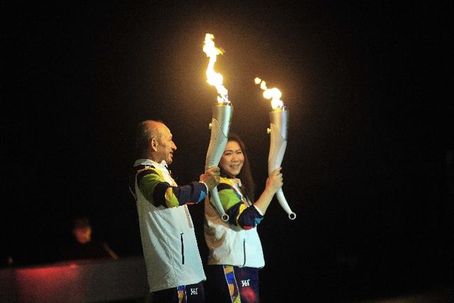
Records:
[[[134,163],[131,192],[137,203],[140,238],[150,292],[206,280],[187,204],[206,197],[204,183],[178,187],[165,162]]]

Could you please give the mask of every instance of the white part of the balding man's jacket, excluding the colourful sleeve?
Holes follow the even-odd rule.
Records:
[[[163,165],[151,160],[138,160],[137,165],[153,165],[162,172],[162,181],[176,186]],[[154,206],[143,197],[137,178],[135,194],[150,292],[206,280],[187,205]]]

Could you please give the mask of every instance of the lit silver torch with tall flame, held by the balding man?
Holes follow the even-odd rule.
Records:
[[[228,130],[232,121],[233,106],[228,101],[228,94],[226,87],[223,86],[223,77],[214,71],[214,62],[216,62],[216,56],[222,55],[224,52],[221,48],[214,46],[214,35],[207,33],[205,35],[204,53],[206,57],[209,57],[209,65],[206,68],[206,82],[216,87],[218,92],[217,103],[212,109],[212,119],[209,124],[211,128],[211,138],[206,152],[205,170],[211,166],[219,165],[224,149],[226,148],[228,141]],[[223,221],[228,221],[228,214],[224,211],[219,199],[218,188],[214,187],[211,189],[211,196],[214,199],[214,206],[221,216]]]

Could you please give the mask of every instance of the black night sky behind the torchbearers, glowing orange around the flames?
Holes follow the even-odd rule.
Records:
[[[126,184],[135,125],[165,121],[177,182],[198,178],[216,100],[202,52],[213,33],[259,191],[270,106],[254,77],[290,111],[282,166],[297,219],[275,201],[260,224],[263,284],[277,275],[279,287],[360,297],[453,280],[450,1],[145,3],[4,9],[2,257],[57,261],[79,213],[119,255],[141,253]],[[200,236],[202,209],[191,207]]]

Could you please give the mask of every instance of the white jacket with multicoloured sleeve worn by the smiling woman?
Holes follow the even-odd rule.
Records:
[[[234,265],[262,268],[265,266],[257,226],[263,216],[240,189],[240,180],[221,177],[218,184],[221,204],[229,216],[224,222],[205,199],[205,241],[209,248],[209,265]]]

